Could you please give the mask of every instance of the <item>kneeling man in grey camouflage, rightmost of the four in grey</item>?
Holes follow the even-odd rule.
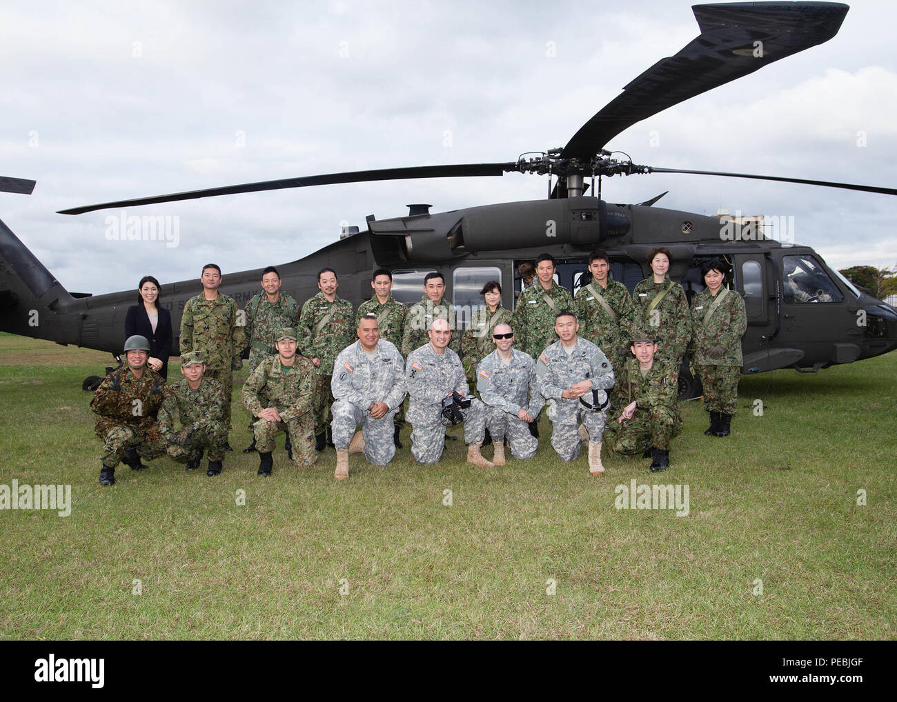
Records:
[[[579,456],[579,444],[588,439],[588,472],[600,475],[605,472],[601,441],[607,417],[606,391],[614,387],[614,368],[601,349],[577,335],[579,323],[569,310],[557,316],[554,331],[560,341],[536,361],[539,391],[548,400],[548,419],[553,422],[552,446],[562,461],[573,461]],[[581,401],[584,395],[594,410]],[[579,431],[579,420],[586,435]]]

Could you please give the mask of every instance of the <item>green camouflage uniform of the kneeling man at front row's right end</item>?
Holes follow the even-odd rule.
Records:
[[[605,446],[621,455],[640,455],[652,446],[668,451],[670,440],[682,431],[682,419],[676,406],[678,366],[659,361],[655,356],[645,377],[641,376],[638,360],[626,361],[623,368],[617,375],[617,382],[625,390],[623,401],[626,404],[636,401],[635,413],[620,424],[616,418],[623,412],[623,407],[614,412],[614,419],[607,422],[605,429]]]

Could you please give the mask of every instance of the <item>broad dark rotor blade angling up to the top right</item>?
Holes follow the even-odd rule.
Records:
[[[832,39],[849,8],[840,3],[727,3],[692,9],[701,35],[623,88],[579,128],[563,157],[589,160],[642,119]]]

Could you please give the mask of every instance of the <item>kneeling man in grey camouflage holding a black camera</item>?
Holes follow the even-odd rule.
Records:
[[[464,368],[457,353],[448,348],[451,328],[445,319],[435,319],[430,342],[408,354],[405,383],[408,387],[408,421],[411,422],[411,454],[419,464],[439,463],[445,448],[445,427],[440,420],[442,401],[453,392],[468,394]],[[464,416],[467,463],[492,468],[480,454],[486,431],[483,403],[471,399]]]

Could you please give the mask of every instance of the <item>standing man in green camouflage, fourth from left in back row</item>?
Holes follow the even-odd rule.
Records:
[[[322,268],[318,272],[318,289],[313,298],[302,305],[299,316],[299,353],[315,365],[315,437],[316,449],[326,447],[327,426],[330,424],[330,377],[334,373],[336,354],[355,338],[355,311],[347,299],[336,296],[336,272]]]

